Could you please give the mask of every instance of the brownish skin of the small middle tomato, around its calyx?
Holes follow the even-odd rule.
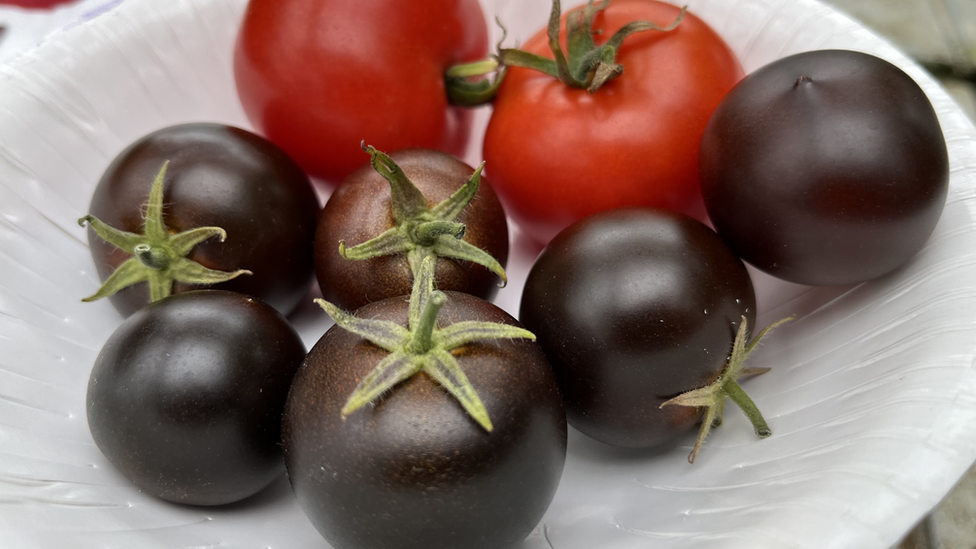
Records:
[[[364,154],[365,158],[366,155]],[[474,173],[457,158],[430,149],[402,149],[389,154],[433,206],[451,196]],[[464,239],[485,250],[505,266],[508,261],[508,222],[488,179],[482,176],[478,194],[457,221],[464,223]],[[339,255],[339,241],[349,247],[379,236],[393,226],[390,184],[369,162],[346,177],[332,193],[319,216],[315,235],[315,273],[323,297],[345,310],[372,301],[408,295],[413,274],[406,256],[388,255],[353,261]],[[435,273],[440,290],[454,290],[491,299],[500,283],[494,273],[471,262],[442,259]]]

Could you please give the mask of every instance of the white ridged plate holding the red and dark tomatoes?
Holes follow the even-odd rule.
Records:
[[[485,4],[512,41],[540,27],[549,6]],[[808,288],[756,274],[760,323],[799,315],[752,362],[773,371],[747,381],[773,436],[756,440],[730,411],[692,466],[691,433],[634,452],[571,432],[563,482],[523,549],[886,549],[976,458],[976,129],[905,56],[813,0],[689,4],[747,70],[825,47],[905,69],[949,143],[945,213],[908,266],[875,282]],[[134,490],[85,420],[89,370],[121,319],[107,302],[79,301],[98,279],[76,220],[102,170],[137,137],[187,121],[248,126],[230,62],[243,8],[127,0],[0,66],[4,548],[327,547],[284,478],[227,508],[170,505]],[[497,300],[511,312],[536,252],[515,240],[512,283]],[[297,322],[309,344],[328,325],[312,307]]]

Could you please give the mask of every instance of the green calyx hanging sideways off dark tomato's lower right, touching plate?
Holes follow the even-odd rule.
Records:
[[[769,368],[746,368],[745,362],[749,355],[756,350],[760,341],[773,328],[793,320],[793,317],[783,318],[766,326],[759,334],[746,344],[748,328],[746,317],[742,317],[739,329],[735,334],[735,341],[732,343],[732,353],[729,355],[725,369],[718,379],[700,389],[694,389],[682,393],[661,404],[661,408],[670,405],[696,406],[705,408],[705,417],[702,420],[701,428],[698,430],[698,437],[695,439],[695,447],[688,454],[688,463],[694,463],[698,456],[701,445],[705,442],[712,427],[718,427],[722,423],[725,412],[725,399],[728,397],[742,409],[746,417],[752,423],[756,436],[766,438],[772,434],[769,424],[763,418],[756,403],[746,394],[738,383],[742,376],[759,375],[769,371]]]

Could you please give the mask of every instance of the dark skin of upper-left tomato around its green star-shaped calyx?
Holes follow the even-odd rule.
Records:
[[[170,126],[126,148],[102,175],[90,213],[105,223],[143,233],[149,189],[169,160],[163,219],[171,232],[217,226],[227,240],[197,245],[190,259],[243,275],[210,286],[253,295],[288,314],[313,281],[312,242],[320,210],[305,173],[281,149],[246,130],[213,123]],[[104,281],[131,256],[92,229],[88,242]],[[199,289],[176,284],[174,292]],[[128,316],[149,302],[145,283],[109,298]]]

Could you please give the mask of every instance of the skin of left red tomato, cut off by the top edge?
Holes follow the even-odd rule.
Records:
[[[363,139],[461,155],[471,113],[448,105],[444,71],[487,48],[477,0],[252,0],[234,75],[258,131],[337,183]]]

